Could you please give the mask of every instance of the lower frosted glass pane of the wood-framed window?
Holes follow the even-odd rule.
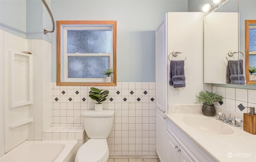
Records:
[[[108,68],[108,56],[68,56],[68,78],[103,78],[103,70]]]

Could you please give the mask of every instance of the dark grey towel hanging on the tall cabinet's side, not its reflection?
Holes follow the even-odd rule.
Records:
[[[185,87],[184,60],[171,60],[169,85],[174,88]]]

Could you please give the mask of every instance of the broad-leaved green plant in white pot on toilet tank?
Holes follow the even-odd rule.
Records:
[[[106,97],[108,96],[109,91],[108,90],[103,90],[103,89],[98,89],[95,87],[91,87],[91,91],[89,92],[89,97],[97,103],[94,104],[94,110],[95,111],[102,111],[102,102],[106,101]]]

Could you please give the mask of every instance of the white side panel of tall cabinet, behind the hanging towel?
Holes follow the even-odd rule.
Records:
[[[173,88],[169,86],[170,105],[193,105],[196,94],[204,89],[203,81],[203,12],[168,13],[168,47],[167,53],[182,51],[182,54],[171,60],[184,60],[186,87]],[[189,24],[189,25],[187,25]],[[168,78],[170,79],[170,62],[168,63]]]

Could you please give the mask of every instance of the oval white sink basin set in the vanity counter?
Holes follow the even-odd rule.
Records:
[[[186,116],[182,118],[183,122],[193,128],[215,133],[215,134],[233,134],[234,130],[223,122],[207,117]]]

